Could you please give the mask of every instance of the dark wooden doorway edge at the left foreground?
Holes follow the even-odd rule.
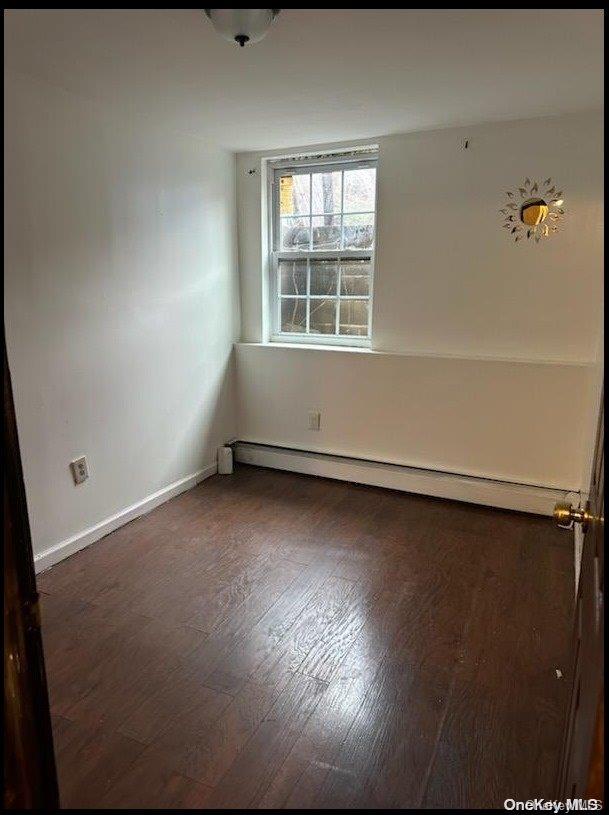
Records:
[[[57,809],[38,594],[6,342],[3,492],[4,808]]]

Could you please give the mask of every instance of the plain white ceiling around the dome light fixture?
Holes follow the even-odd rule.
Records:
[[[262,42],[202,10],[5,12],[15,70],[233,150],[602,106],[603,12],[284,9]]]

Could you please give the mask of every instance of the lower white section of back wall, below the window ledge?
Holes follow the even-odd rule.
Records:
[[[247,344],[237,358],[243,441],[579,488],[587,367]]]

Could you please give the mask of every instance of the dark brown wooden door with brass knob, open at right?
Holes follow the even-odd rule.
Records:
[[[563,760],[560,800],[604,800],[603,775],[603,527],[604,420],[599,420],[584,545],[575,604],[573,686]]]

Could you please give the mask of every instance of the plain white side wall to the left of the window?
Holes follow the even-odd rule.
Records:
[[[234,157],[23,76],[5,98],[5,326],[40,554],[235,435]]]

